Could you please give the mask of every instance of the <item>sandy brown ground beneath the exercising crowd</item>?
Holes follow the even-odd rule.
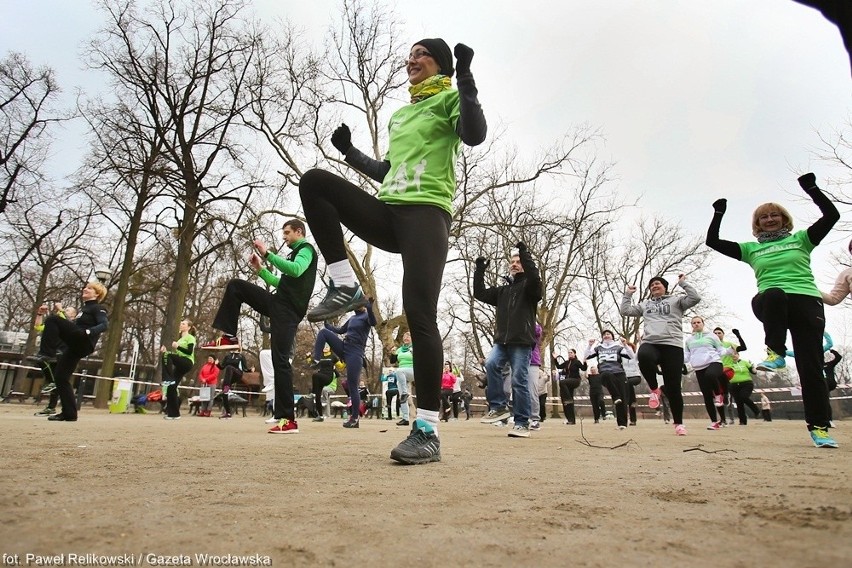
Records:
[[[236,555],[274,566],[852,565],[852,436],[816,449],[801,422],[689,435],[644,420],[584,432],[550,419],[530,439],[441,424],[443,461],[400,466],[407,428],[109,415],[76,423],[0,405],[2,565],[31,555],[134,566]],[[610,449],[629,441],[629,444]],[[685,451],[700,447],[702,451]],[[14,555],[18,555],[17,558]],[[83,557],[85,561],[85,557]],[[90,557],[88,565],[104,562]],[[210,564],[208,561],[207,564]]]

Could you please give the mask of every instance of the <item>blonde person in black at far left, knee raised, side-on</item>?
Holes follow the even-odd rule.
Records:
[[[81,293],[83,309],[74,321],[58,315],[47,316],[44,331],[41,332],[39,352],[31,359],[42,365],[56,362],[53,367],[53,380],[59,391],[62,412],[48,416],[48,420],[75,422],[77,420],[77,401],[71,386],[71,375],[77,369],[80,359],[95,351],[98,338],[109,326],[106,307],[101,302],[106,298],[106,287],[100,282],[89,282]],[[61,344],[65,350],[57,357]]]

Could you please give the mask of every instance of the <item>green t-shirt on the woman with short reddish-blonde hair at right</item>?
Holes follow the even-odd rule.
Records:
[[[768,243],[740,243],[742,261],[754,270],[758,292],[780,288],[788,294],[820,298],[811,270],[811,251],[814,248],[807,231],[797,231]]]

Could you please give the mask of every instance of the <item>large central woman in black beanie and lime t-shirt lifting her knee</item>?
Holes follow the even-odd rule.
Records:
[[[443,344],[437,313],[456,191],[455,163],[460,144],[476,146],[487,131],[470,71],[473,50],[460,43],[455,56],[453,68],[453,52],[440,38],[411,46],[405,59],[411,104],[391,117],[384,160],[357,150],[345,124],[332,135],[332,145],[349,165],[382,184],[378,197],[318,169],[306,172],[299,181],[305,217],[332,280],[327,296],[310,311],[308,320],[332,319],[366,302],[346,257],[342,226],[401,257],[402,305],[417,346],[417,419],[408,438],[391,452],[391,459],[403,464],[441,459],[438,411]],[[458,90],[452,88],[454,73]]]

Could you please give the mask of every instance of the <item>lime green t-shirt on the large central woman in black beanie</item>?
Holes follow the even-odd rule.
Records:
[[[394,205],[435,205],[452,215],[456,192],[459,93],[442,91],[396,111],[388,124],[391,168],[379,199]]]

